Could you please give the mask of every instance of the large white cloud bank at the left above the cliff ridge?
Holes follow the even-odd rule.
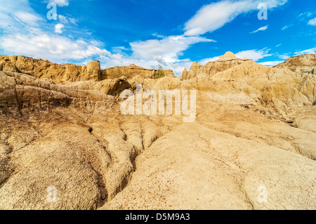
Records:
[[[57,3],[67,5],[68,1]],[[4,32],[0,35],[0,49],[6,54],[45,58],[54,62],[80,62],[110,54],[100,47],[102,43],[98,41],[54,35],[51,30],[55,29],[56,33],[61,34],[64,25],[59,23],[53,26],[41,19],[27,0],[3,0],[1,4],[0,27]],[[21,8],[23,11],[20,11]]]

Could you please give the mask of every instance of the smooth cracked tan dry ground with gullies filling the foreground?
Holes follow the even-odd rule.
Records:
[[[72,92],[70,103],[31,91],[25,105],[19,88],[1,107],[0,209],[316,208],[316,131],[303,118],[297,128],[264,108],[199,98],[185,124],[123,116],[117,103],[97,108]],[[315,106],[296,112],[316,116]]]

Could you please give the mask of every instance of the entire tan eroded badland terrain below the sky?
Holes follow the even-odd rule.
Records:
[[[228,52],[154,79],[0,55],[0,209],[315,209],[315,68]],[[196,90],[195,121],[121,114],[137,84]]]

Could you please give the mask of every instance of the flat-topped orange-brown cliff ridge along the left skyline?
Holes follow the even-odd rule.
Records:
[[[157,72],[157,70],[145,69],[136,65],[101,70],[100,62],[96,60],[89,62],[87,65],[59,65],[48,60],[7,55],[0,55],[0,71],[29,74],[38,79],[53,80],[58,84],[64,81],[118,79],[122,76],[132,79],[136,75],[144,78],[154,78],[154,73]],[[172,70],[164,70],[164,75],[175,77]]]

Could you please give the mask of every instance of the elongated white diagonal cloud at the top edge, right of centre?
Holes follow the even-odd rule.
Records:
[[[185,35],[196,36],[213,32],[220,27],[223,27],[228,22],[234,20],[242,13],[258,10],[258,4],[262,0],[224,0],[203,6],[197,13],[185,23]],[[268,0],[265,4],[269,9],[282,6],[287,3],[287,0]]]

